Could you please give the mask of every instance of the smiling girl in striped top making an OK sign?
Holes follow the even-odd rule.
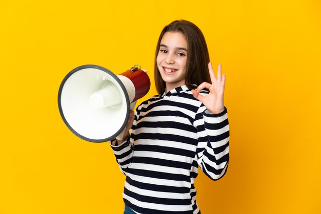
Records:
[[[124,213],[200,213],[198,166],[212,180],[226,173],[225,75],[219,66],[215,77],[209,61],[203,33],[194,24],[176,20],[160,33],[154,71],[159,95],[131,112],[126,139],[111,141],[126,175]]]

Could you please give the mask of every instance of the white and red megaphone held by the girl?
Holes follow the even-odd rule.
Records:
[[[70,71],[58,91],[58,108],[69,130],[89,142],[122,138],[139,98],[150,89],[147,71],[135,65],[115,75],[101,66],[84,65]]]

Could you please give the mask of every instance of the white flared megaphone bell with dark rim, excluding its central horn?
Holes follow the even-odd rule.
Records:
[[[92,108],[90,97],[102,90],[106,81],[118,90],[122,102],[118,108]],[[106,142],[125,129],[130,100],[124,84],[111,71],[86,65],[75,68],[64,78],[58,92],[58,106],[72,133],[90,142]]]

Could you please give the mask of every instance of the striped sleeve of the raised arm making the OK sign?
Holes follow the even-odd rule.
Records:
[[[201,115],[202,114],[202,115]],[[227,109],[212,114],[201,107],[196,115],[197,127],[197,163],[212,180],[222,178],[229,163],[229,122]]]

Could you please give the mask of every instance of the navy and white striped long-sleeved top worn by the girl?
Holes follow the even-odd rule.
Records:
[[[130,136],[111,147],[126,175],[124,202],[136,213],[200,213],[198,166],[212,180],[228,167],[227,110],[211,114],[184,85],[139,105]]]

